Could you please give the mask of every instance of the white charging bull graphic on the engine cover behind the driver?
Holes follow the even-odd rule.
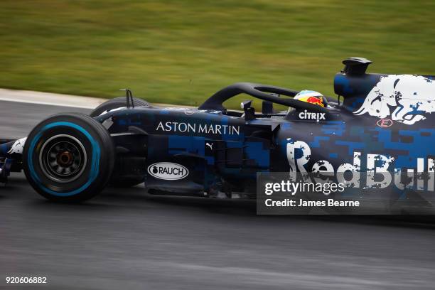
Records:
[[[435,112],[435,82],[421,75],[387,75],[381,77],[354,114],[390,117],[412,125],[431,112]]]

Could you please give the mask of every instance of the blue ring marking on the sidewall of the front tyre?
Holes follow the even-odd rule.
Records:
[[[41,183],[41,179],[36,175],[36,172],[33,169],[32,156],[33,156],[33,151],[35,150],[35,146],[38,143],[38,140],[41,139],[43,132],[54,127],[70,127],[76,129],[77,131],[82,132],[82,134],[84,134],[92,144],[92,161],[91,161],[89,178],[83,186],[80,186],[80,188],[77,188],[76,190],[70,191],[68,193],[58,193],[57,191],[50,190],[49,188],[43,186],[43,184]],[[27,161],[28,161],[28,169],[30,171],[31,178],[33,179],[33,181],[38,183],[39,188],[41,188],[46,193],[49,193],[51,195],[71,196],[71,195],[76,195],[77,193],[81,193],[83,190],[88,188],[93,181],[95,181],[95,179],[98,176],[98,173],[100,172],[100,156],[101,156],[100,144],[98,144],[98,142],[95,141],[95,139],[92,138],[92,136],[85,129],[71,122],[55,122],[55,123],[45,125],[45,127],[43,127],[41,131],[39,131],[38,134],[36,134],[35,138],[31,140],[31,144],[29,146],[28,154],[27,154]]]

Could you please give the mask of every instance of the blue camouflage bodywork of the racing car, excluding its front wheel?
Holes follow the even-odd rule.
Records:
[[[369,74],[364,58],[343,63],[334,78],[338,100],[328,97],[323,107],[294,100],[297,91],[237,83],[197,109],[146,104],[102,112],[95,119],[117,149],[114,175],[137,176],[150,193],[197,196],[254,197],[258,172],[316,173],[358,190],[433,191],[433,77]],[[243,111],[222,105],[242,93],[262,100],[262,111],[250,101]],[[276,112],[273,104],[289,109]],[[11,160],[19,170],[16,142],[0,145],[3,178]]]

